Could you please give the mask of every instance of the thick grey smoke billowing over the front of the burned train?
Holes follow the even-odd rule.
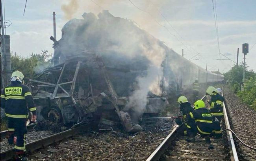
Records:
[[[133,81],[124,86],[130,88],[126,108],[135,107],[137,112],[143,112],[149,92],[162,94],[166,49],[134,22],[114,17],[108,11],[99,13],[98,18],[93,13],[84,13],[83,18],[72,19],[63,26],[62,38],[54,45],[54,62],[96,53],[109,68],[124,68],[129,73],[140,71],[135,77],[131,74]],[[118,75],[114,79],[121,80]]]

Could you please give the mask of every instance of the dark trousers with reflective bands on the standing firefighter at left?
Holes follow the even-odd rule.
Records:
[[[7,117],[7,130],[10,136],[8,142],[13,142],[14,135],[17,136],[16,145],[14,146],[16,152],[26,151],[26,121],[25,118]]]

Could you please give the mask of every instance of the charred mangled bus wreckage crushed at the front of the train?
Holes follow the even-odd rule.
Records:
[[[119,93],[126,95],[128,89],[120,85],[122,80],[117,75],[126,75],[127,72],[108,68],[97,55],[89,53],[86,58],[76,57],[45,69],[37,80],[30,79],[38,119],[64,124],[98,119],[101,125],[121,123],[126,132],[142,130],[138,124],[132,123],[128,114],[136,111],[125,110],[128,97],[119,97],[115,91],[119,89]],[[158,114],[167,104],[163,97],[151,96],[147,100],[149,103],[144,113]]]

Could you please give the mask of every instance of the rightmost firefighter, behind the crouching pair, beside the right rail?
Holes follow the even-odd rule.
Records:
[[[211,96],[211,100],[208,101],[210,107],[210,113],[213,117],[213,132],[211,136],[214,136],[214,139],[219,139],[222,137],[221,133],[221,124],[220,121],[223,117],[223,102],[224,98],[217,92],[213,86],[210,86],[206,90],[206,95]]]

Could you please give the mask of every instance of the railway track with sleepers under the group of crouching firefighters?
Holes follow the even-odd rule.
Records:
[[[222,87],[223,91],[223,87]],[[223,94],[223,92],[222,92]],[[202,97],[205,101],[206,95]],[[222,120],[222,130],[229,128],[230,121],[224,102],[224,118]],[[157,160],[231,160],[238,161],[233,135],[226,131],[221,139],[211,139],[214,150],[208,150],[208,145],[204,138],[196,136],[196,143],[187,143],[185,137],[178,137],[179,126],[176,125],[173,131],[163,140],[156,150],[147,158],[147,161]]]

